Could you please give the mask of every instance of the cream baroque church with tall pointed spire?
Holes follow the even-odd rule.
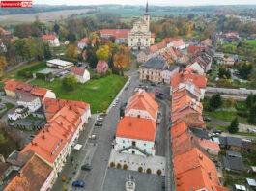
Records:
[[[128,33],[128,47],[132,50],[141,50],[154,43],[150,32],[150,15],[148,2],[143,18],[133,23],[133,28]]]

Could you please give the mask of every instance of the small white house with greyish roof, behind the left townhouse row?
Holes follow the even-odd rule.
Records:
[[[40,99],[33,96],[24,96],[17,101],[17,104],[27,107],[30,112],[35,112],[41,107]]]

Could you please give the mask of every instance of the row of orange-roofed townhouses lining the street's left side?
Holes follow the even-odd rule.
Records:
[[[16,87],[19,82],[14,84]],[[8,82],[7,87],[14,84]],[[16,94],[14,87],[11,87],[14,90],[12,95]],[[31,91],[30,97],[35,97],[33,89]],[[29,99],[29,94],[26,95]],[[41,98],[47,123],[23,150],[14,151],[7,158],[7,162],[19,171],[5,191],[50,189],[91,117],[88,103],[45,95]]]

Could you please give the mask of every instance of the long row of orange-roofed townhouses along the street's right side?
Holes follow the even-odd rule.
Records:
[[[204,96],[200,88],[206,88],[206,83],[207,78],[195,74],[191,68],[172,78],[171,147],[177,191],[227,190],[222,187],[216,167],[209,158],[209,154],[218,154],[218,144],[199,138],[192,131],[206,128],[200,103]]]

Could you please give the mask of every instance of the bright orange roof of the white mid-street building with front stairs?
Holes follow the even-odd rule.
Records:
[[[126,116],[117,126],[116,137],[155,141],[156,122],[150,119],[133,118]]]

